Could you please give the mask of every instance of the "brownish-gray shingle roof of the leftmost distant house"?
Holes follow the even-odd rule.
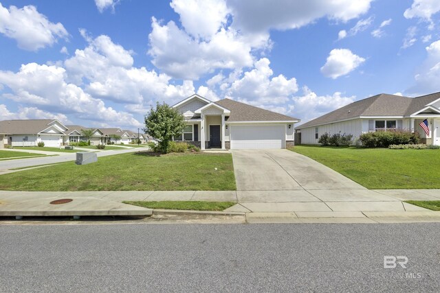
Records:
[[[9,134],[37,134],[50,127],[55,119],[23,119],[0,121],[0,132]],[[68,130],[67,130],[68,131]]]

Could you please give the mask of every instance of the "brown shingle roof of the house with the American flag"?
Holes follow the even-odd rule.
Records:
[[[313,119],[297,129],[329,124],[335,121],[354,119],[360,116],[406,116],[416,113],[426,104],[440,98],[440,93],[433,93],[421,97],[402,97],[382,93],[353,102],[342,108]]]

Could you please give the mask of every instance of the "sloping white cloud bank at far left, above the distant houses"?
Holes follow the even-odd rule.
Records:
[[[3,97],[21,104],[30,104],[45,112],[74,115],[79,119],[111,121],[119,126],[142,126],[133,115],[106,107],[101,99],[95,99],[75,84],[65,82],[65,78],[62,67],[36,63],[22,65],[17,73],[0,71],[0,83],[12,91],[3,94]]]

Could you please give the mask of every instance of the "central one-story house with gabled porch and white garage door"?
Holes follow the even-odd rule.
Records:
[[[174,140],[202,150],[288,148],[294,145],[294,124],[300,121],[232,99],[211,102],[200,95],[192,95],[173,108],[187,123]]]

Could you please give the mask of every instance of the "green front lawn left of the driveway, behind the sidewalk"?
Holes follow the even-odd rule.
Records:
[[[217,171],[214,169],[217,167]],[[133,152],[0,176],[0,190],[235,190],[230,154]]]

